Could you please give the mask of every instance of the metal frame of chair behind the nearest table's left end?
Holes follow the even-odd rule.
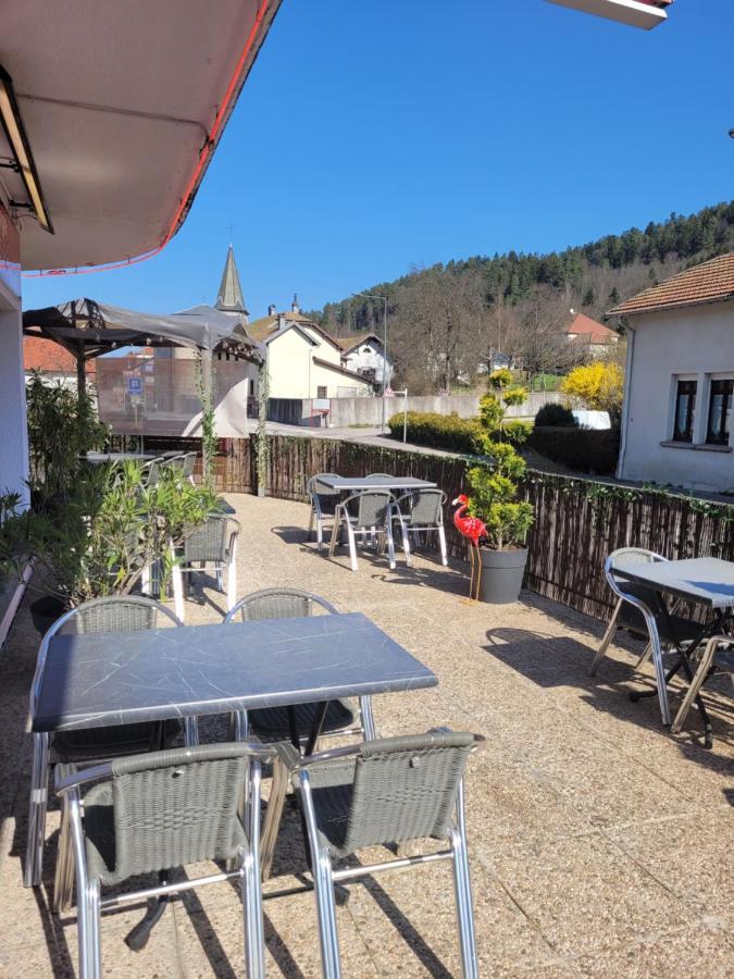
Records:
[[[175,616],[171,609],[154,602],[152,598],[141,598],[136,595],[113,596],[109,598],[94,598],[91,602],[85,602],[76,608],[64,612],[48,630],[41,640],[38,649],[38,658],[36,660],[36,671],[30,684],[30,718],[36,714],[36,706],[40,695],[41,683],[43,680],[43,669],[48,658],[48,650],[51,640],[59,634],[63,627],[72,621],[79,614],[90,608],[99,608],[104,605],[114,603],[125,603],[126,605],[140,606],[141,608],[154,609],[157,612],[167,617],[175,625],[183,625],[183,621]],[[99,635],[111,635],[109,632],[100,632]],[[194,719],[195,721],[196,719]],[[100,728],[100,732],[103,732]],[[196,742],[196,724],[191,724],[189,719],[184,721],[184,731],[186,743]],[[50,767],[50,756],[52,748],[52,734],[49,732],[35,732],[33,735],[33,764],[30,770],[30,797],[28,802],[28,834],[26,843],[25,865],[23,868],[23,884],[26,888],[38,887],[41,882],[43,869],[43,842],[46,840],[46,810],[48,808],[48,778]]]

